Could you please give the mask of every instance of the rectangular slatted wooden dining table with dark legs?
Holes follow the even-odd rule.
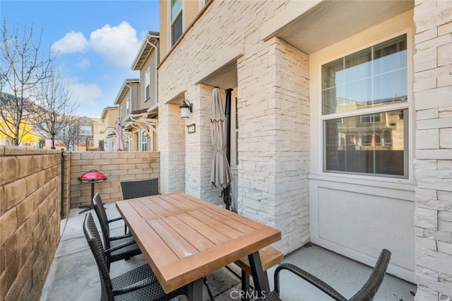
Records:
[[[189,300],[202,300],[203,276],[244,256],[256,292],[270,291],[258,250],[280,240],[280,230],[182,192],[116,204],[166,293],[189,285]]]

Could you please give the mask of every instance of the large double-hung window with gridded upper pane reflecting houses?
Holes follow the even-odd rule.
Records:
[[[407,61],[403,35],[321,67],[324,172],[408,177]]]

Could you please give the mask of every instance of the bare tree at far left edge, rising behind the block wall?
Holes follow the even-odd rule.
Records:
[[[32,120],[39,119],[35,104],[32,102],[32,92],[37,84],[49,76],[49,70],[54,58],[44,59],[40,54],[42,30],[39,39],[33,40],[32,25],[30,30],[24,26],[23,35],[19,35],[18,28],[8,35],[6,18],[4,18],[1,33],[0,48],[0,93],[11,94],[11,98],[2,98],[0,105],[0,118],[5,126],[0,133],[18,146],[23,137],[32,131],[24,124],[32,124]]]

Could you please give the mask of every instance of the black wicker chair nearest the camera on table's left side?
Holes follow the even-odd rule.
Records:
[[[83,222],[83,232],[93,252],[100,276],[102,296],[100,300],[170,300],[178,295],[187,295],[188,288],[183,286],[166,294],[148,264],[134,268],[120,276],[110,278],[107,253],[91,213],[87,213]]]

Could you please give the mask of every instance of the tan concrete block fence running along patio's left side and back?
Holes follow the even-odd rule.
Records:
[[[60,240],[61,218],[71,208],[90,205],[91,184],[78,181],[90,170],[107,177],[95,184],[102,201],[119,201],[121,181],[159,177],[160,153],[62,156],[61,151],[0,146],[1,300],[40,300]]]

